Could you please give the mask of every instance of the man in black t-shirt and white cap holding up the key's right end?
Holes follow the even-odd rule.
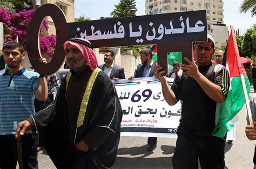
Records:
[[[198,168],[198,158],[201,168],[225,167],[225,139],[212,136],[212,132],[217,104],[225,100],[230,78],[224,66],[212,64],[214,50],[209,35],[208,41],[197,42],[196,62],[185,58],[189,65],[181,65],[184,71],[178,72],[171,88],[161,76],[164,72],[159,72],[161,67],[154,68],[166,102],[174,105],[181,101],[173,168]]]

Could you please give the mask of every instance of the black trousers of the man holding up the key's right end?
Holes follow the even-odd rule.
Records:
[[[198,158],[201,168],[225,167],[224,138],[198,137],[191,133],[177,132],[178,139],[174,150],[173,168],[198,168]]]

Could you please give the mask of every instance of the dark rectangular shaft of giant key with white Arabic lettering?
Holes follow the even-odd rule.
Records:
[[[82,37],[93,47],[186,43],[207,40],[206,11],[69,23],[69,37]]]

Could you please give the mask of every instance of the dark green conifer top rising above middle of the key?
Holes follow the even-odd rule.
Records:
[[[135,0],[120,0],[118,5],[114,5],[114,9],[110,15],[114,18],[118,17],[134,17],[136,16],[136,4]]]

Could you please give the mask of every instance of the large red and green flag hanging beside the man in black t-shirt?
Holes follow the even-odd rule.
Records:
[[[244,74],[247,94],[250,94],[250,81],[246,75],[245,68],[240,62],[239,51],[237,47],[237,40],[235,39],[233,26],[231,27],[231,34],[228,38],[226,51],[224,53],[223,65],[230,73],[230,89],[226,100],[217,105],[217,109],[221,108],[216,113],[215,128],[212,135],[217,137],[224,137],[226,132],[233,128],[232,124],[228,124],[231,119],[238,114],[245,104],[244,91],[242,90],[242,82],[240,74]]]

